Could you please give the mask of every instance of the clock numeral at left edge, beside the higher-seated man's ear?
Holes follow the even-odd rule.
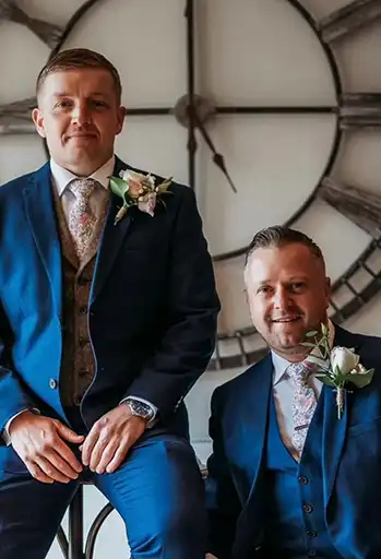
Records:
[[[31,111],[36,106],[36,97],[0,105],[0,135],[35,133]]]

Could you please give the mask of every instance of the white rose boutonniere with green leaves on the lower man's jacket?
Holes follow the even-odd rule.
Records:
[[[303,342],[303,345],[313,348],[311,360],[318,365],[321,372],[314,373],[324,384],[336,390],[337,417],[341,419],[344,412],[344,393],[346,385],[353,384],[361,389],[370,384],[374,369],[366,369],[360,364],[360,356],[354,348],[334,346],[330,347],[329,329],[321,324],[321,331],[308,332],[306,337],[314,342]]]

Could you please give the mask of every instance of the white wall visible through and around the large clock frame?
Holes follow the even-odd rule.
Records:
[[[64,24],[81,0],[19,0],[31,15]],[[305,0],[317,17],[347,0]],[[186,93],[184,2],[103,0],[75,27],[66,47],[103,51],[119,68],[127,107],[174,106]],[[313,34],[284,0],[206,0],[198,3],[198,91],[219,105],[302,105],[334,102],[326,60]],[[0,23],[0,104],[34,95],[35,76],[48,48],[27,29]],[[380,24],[335,47],[348,92],[381,91]],[[238,188],[234,194],[198,136],[200,210],[213,253],[247,245],[262,226],[285,221],[310,194],[326,163],[335,121],[322,117],[218,117],[207,129]],[[121,158],[187,182],[187,133],[174,117],[128,117],[117,142]],[[343,142],[334,174],[380,192],[379,132],[355,132]],[[45,160],[36,135],[0,135],[0,182]],[[312,235],[326,257],[332,278],[360,254],[369,237],[326,204],[314,203],[297,226]],[[223,300],[219,330],[249,324],[242,294],[242,259],[216,265]],[[381,335],[381,296],[348,321],[352,330]],[[234,348],[226,346],[228,354]],[[206,372],[189,394],[191,433],[201,460],[210,452],[210,396],[240,370]],[[85,524],[104,503],[86,489]],[[112,513],[100,532],[96,559],[126,557],[122,523]],[[60,557],[55,544],[49,559]]]

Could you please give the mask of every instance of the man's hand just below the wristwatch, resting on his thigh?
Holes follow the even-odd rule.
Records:
[[[120,404],[93,425],[83,443],[83,464],[97,474],[111,474],[143,435],[145,426],[145,419],[132,415],[128,405]]]

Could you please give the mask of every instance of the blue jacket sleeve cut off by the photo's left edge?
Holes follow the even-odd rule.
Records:
[[[12,370],[12,331],[0,302],[0,445],[5,444],[1,436],[11,418],[24,409],[36,406],[23,390],[17,374]]]

